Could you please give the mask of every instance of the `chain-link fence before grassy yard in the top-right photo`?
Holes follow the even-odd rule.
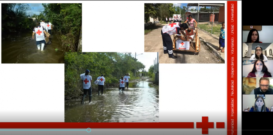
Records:
[[[225,6],[213,6],[198,9],[189,9],[186,14],[182,15],[184,22],[187,17],[192,15],[192,18],[196,20],[197,27],[202,29],[211,35],[220,36],[222,23],[225,21]],[[194,26],[196,24],[194,23]]]

